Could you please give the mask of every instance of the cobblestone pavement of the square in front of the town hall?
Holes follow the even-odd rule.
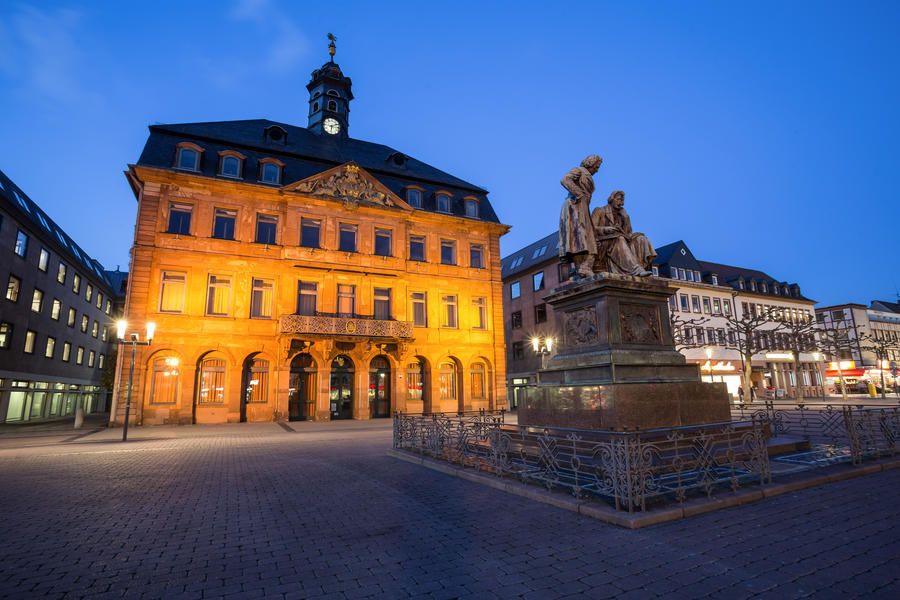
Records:
[[[291,427],[0,436],[0,597],[900,598],[900,470],[629,531]]]

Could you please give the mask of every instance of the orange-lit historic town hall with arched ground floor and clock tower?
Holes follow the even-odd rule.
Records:
[[[156,324],[138,348],[131,415],[210,423],[504,407],[508,227],[487,192],[351,138],[351,80],[336,63],[307,89],[306,127],[150,127],[126,173],[138,202],[129,330]],[[122,356],[120,380],[127,371]]]

